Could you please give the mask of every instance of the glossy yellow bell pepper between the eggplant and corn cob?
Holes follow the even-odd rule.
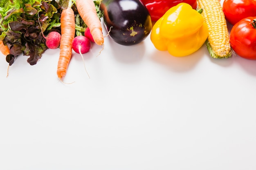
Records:
[[[156,49],[182,57],[200,49],[207,37],[208,29],[202,15],[182,2],[155,22],[150,40]]]

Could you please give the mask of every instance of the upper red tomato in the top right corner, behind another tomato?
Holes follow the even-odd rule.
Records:
[[[256,0],[224,0],[222,8],[232,25],[243,18],[256,16]]]

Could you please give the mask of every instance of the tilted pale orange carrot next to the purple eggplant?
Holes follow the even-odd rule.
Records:
[[[85,24],[89,27],[94,42],[104,44],[101,21],[99,20],[93,0],[76,0],[76,8]]]

